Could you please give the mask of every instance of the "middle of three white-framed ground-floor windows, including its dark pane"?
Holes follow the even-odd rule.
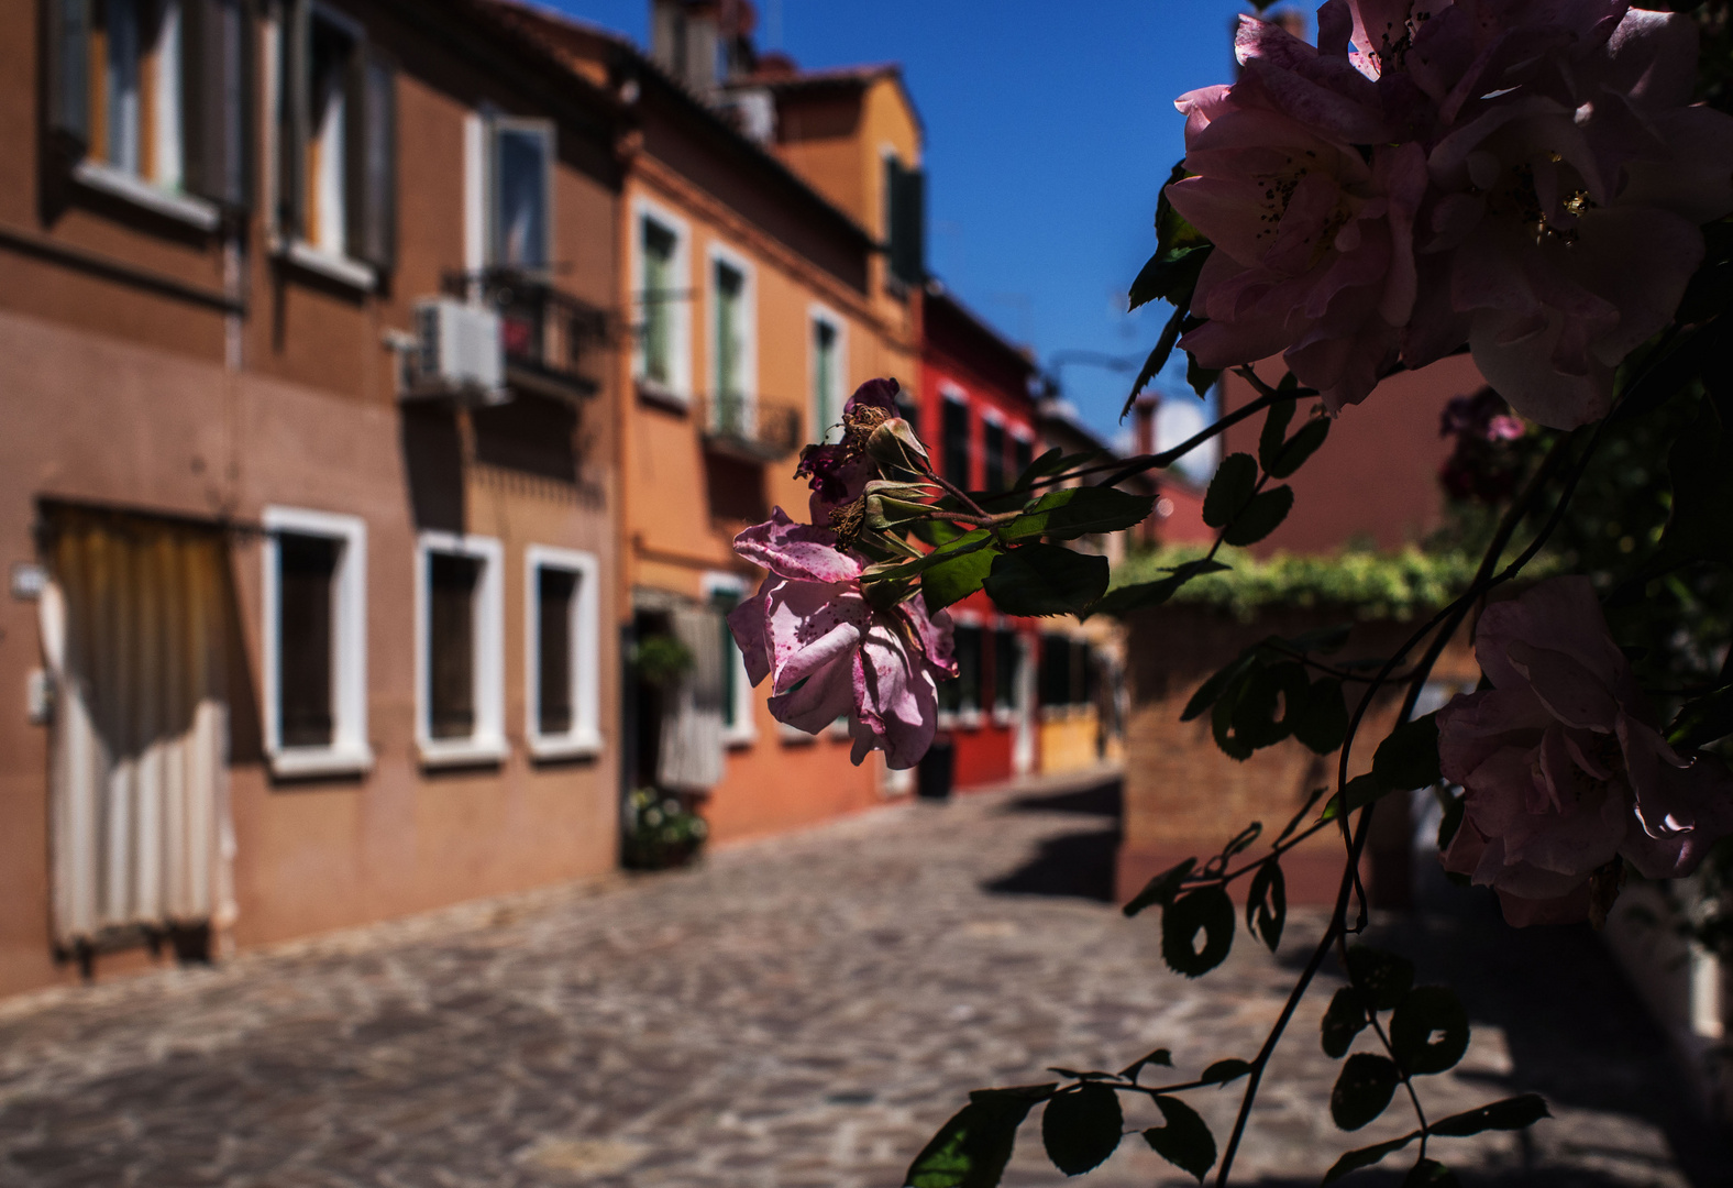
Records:
[[[428,765],[504,758],[499,541],[416,543],[416,741]]]

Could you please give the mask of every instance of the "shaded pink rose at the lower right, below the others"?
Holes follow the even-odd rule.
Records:
[[[1475,656],[1492,689],[1438,711],[1466,794],[1444,865],[1496,888],[1511,924],[1584,919],[1615,858],[1679,878],[1733,832],[1733,777],[1662,739],[1587,578],[1487,607]]]

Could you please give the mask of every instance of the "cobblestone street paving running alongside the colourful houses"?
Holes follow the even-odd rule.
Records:
[[[905,805],[693,871],[3,1004],[0,1185],[894,1188],[970,1087],[1256,1049],[1317,917],[1279,959],[1241,933],[1225,969],[1166,973],[1154,919],[1100,898],[1111,808],[1111,789]],[[1733,1183],[1586,931],[1438,916],[1386,940],[1475,1020],[1431,1115],[1529,1089],[1558,1115],[1435,1148],[1464,1183]],[[1277,1053],[1241,1183],[1315,1185],[1400,1133],[1395,1106],[1329,1124],[1334,985]],[[1237,1086],[1191,1096],[1225,1136]],[[1007,1183],[1062,1179],[1031,1119]],[[1080,1183],[1189,1181],[1128,1139]]]

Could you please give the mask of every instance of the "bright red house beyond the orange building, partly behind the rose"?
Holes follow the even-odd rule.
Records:
[[[1035,460],[1035,361],[932,281],[924,302],[920,385],[912,409],[934,463],[969,491],[1009,487]],[[951,607],[958,678],[939,689],[953,784],[1036,770],[1036,619],[1002,616],[984,593]]]

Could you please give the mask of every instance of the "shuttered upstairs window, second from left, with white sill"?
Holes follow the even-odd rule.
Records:
[[[371,269],[390,269],[397,250],[393,71],[359,24],[310,0],[286,0],[279,69],[277,222],[289,258],[371,288]]]

